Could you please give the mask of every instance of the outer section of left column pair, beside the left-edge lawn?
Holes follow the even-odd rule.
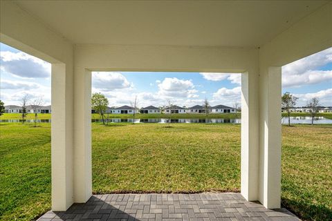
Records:
[[[52,64],[52,210],[73,204],[73,70]]]

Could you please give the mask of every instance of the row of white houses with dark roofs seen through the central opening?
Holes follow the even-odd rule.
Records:
[[[236,108],[231,108],[224,105],[216,105],[210,107],[210,113],[235,113]],[[92,111],[94,113],[94,111]],[[134,113],[134,108],[131,106],[120,106],[116,107],[107,107],[106,113],[116,113],[116,114],[130,114]],[[135,113],[205,113],[205,108],[201,105],[195,105],[190,108],[184,108],[181,106],[173,105],[165,108],[157,108],[156,106],[147,106],[145,108],[136,108]]]

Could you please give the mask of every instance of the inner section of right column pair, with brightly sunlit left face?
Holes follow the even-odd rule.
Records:
[[[259,182],[259,102],[258,73],[241,77],[241,194],[246,200],[258,200]]]

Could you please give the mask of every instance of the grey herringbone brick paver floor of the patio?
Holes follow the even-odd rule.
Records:
[[[299,220],[286,209],[270,210],[239,193],[104,194],[66,212],[45,213],[44,220]]]

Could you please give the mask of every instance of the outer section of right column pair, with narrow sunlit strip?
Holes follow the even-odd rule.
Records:
[[[282,156],[282,68],[261,70],[259,77],[259,201],[280,208]]]

